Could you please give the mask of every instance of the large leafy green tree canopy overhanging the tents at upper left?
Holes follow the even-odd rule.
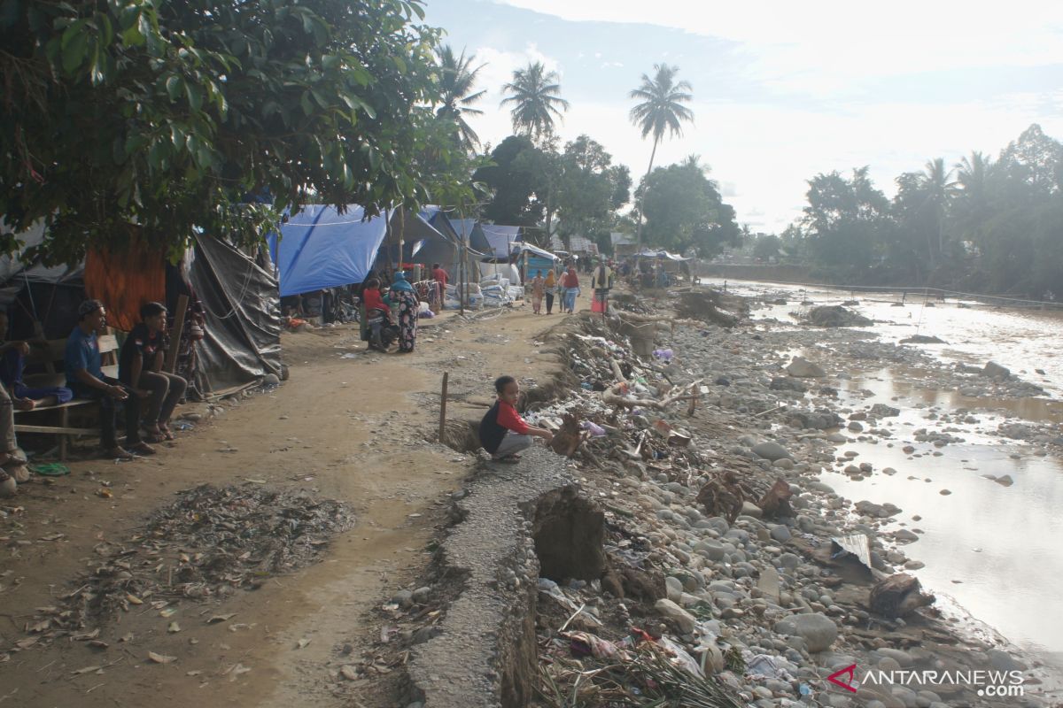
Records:
[[[0,213],[14,232],[48,224],[48,262],[133,231],[171,255],[197,229],[254,244],[311,193],[370,212],[416,203],[421,169],[450,150],[421,0],[2,11]]]

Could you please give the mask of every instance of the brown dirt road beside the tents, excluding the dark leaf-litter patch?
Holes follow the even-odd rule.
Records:
[[[9,512],[0,519],[0,706],[387,705],[336,672],[368,644],[372,608],[424,568],[443,500],[469,471],[471,457],[429,442],[441,375],[450,372],[457,401],[449,417],[476,416],[495,376],[544,379],[556,367],[537,342],[562,317],[530,307],[475,322],[448,313],[422,328],[411,355],[367,353],[345,327],[285,334],[291,376],[281,388],[223,403],[154,457],[74,462],[53,484],[23,485],[0,507]],[[35,608],[56,604],[95,567],[94,547],[128,539],[174,493],[205,482],[307,489],[350,503],[357,523],[322,562],[253,592],[181,602],[169,618],[133,607],[103,623],[106,649],[27,634]],[[102,483],[113,498],[97,495]],[[230,612],[227,622],[205,621]],[[168,633],[175,620],[181,631]],[[176,659],[153,663],[149,652]]]

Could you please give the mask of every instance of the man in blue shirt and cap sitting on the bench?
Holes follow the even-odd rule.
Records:
[[[67,386],[77,398],[100,402],[100,444],[107,457],[131,460],[131,452],[154,454],[155,449],[140,441],[140,397],[131,396],[131,392],[117,379],[103,376],[97,335],[106,326],[107,311],[103,303],[85,300],[78,307],[78,326],[67,338]],[[125,401],[125,445],[129,451],[118,445],[115,435],[118,401]]]

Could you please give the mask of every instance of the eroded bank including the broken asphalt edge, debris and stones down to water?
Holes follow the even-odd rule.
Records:
[[[525,415],[558,430],[571,459],[482,460],[455,493],[455,524],[422,579],[449,583],[449,604],[404,592],[385,606],[409,638],[393,646],[408,652],[402,701],[1051,705],[1052,668],[974,632],[921,584],[907,552],[918,518],[825,481],[839,467],[896,473],[843,450],[861,433],[946,439],[841,393],[854,351],[904,347],[815,330],[848,353],[794,358],[791,325],[750,323],[741,300],[712,292],[675,295],[624,297],[609,317],[552,332],[564,374],[549,395],[529,391]],[[451,445],[475,446],[471,422],[449,422]],[[1058,455],[1051,432],[1031,439]]]

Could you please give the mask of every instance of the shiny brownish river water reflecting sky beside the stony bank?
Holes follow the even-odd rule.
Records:
[[[705,280],[705,279],[703,279]],[[709,280],[713,287],[722,280]],[[901,410],[891,418],[895,438],[885,443],[851,442],[839,448],[859,453],[857,462],[875,469],[893,467],[896,474],[875,473],[853,481],[838,470],[821,479],[838,494],[858,501],[892,502],[902,513],[898,524],[923,531],[918,541],[904,548],[926,567],[914,571],[921,582],[948,608],[962,609],[1012,643],[1041,659],[1063,679],[1063,460],[1031,454],[1020,441],[1002,441],[997,424],[1010,416],[1031,421],[1063,422],[1063,316],[1059,312],[989,308],[977,303],[934,301],[907,296],[850,295],[828,289],[804,289],[777,283],[735,281],[728,292],[760,297],[777,293],[787,305],[755,310],[758,318],[793,322],[791,312],[802,300],[838,305],[854,298],[851,309],[875,324],[864,331],[885,342],[915,333],[935,335],[947,345],[923,345],[927,353],[948,365],[977,366],[993,360],[1046,391],[1040,398],[979,399],[955,391],[930,391],[904,383],[890,367],[854,372],[841,381],[840,407],[862,409],[883,402]],[[932,300],[931,300],[932,301]],[[1037,374],[1041,369],[1044,374]],[[875,396],[857,396],[870,390]],[[934,418],[966,408],[977,424],[954,425],[965,439],[937,449],[915,444],[902,452],[908,431],[930,428]],[[938,454],[940,453],[940,454]],[[1009,474],[1010,487],[983,476]],[[941,495],[947,489],[951,494]],[[922,517],[913,521],[912,517]],[[894,525],[893,528],[897,528]]]

